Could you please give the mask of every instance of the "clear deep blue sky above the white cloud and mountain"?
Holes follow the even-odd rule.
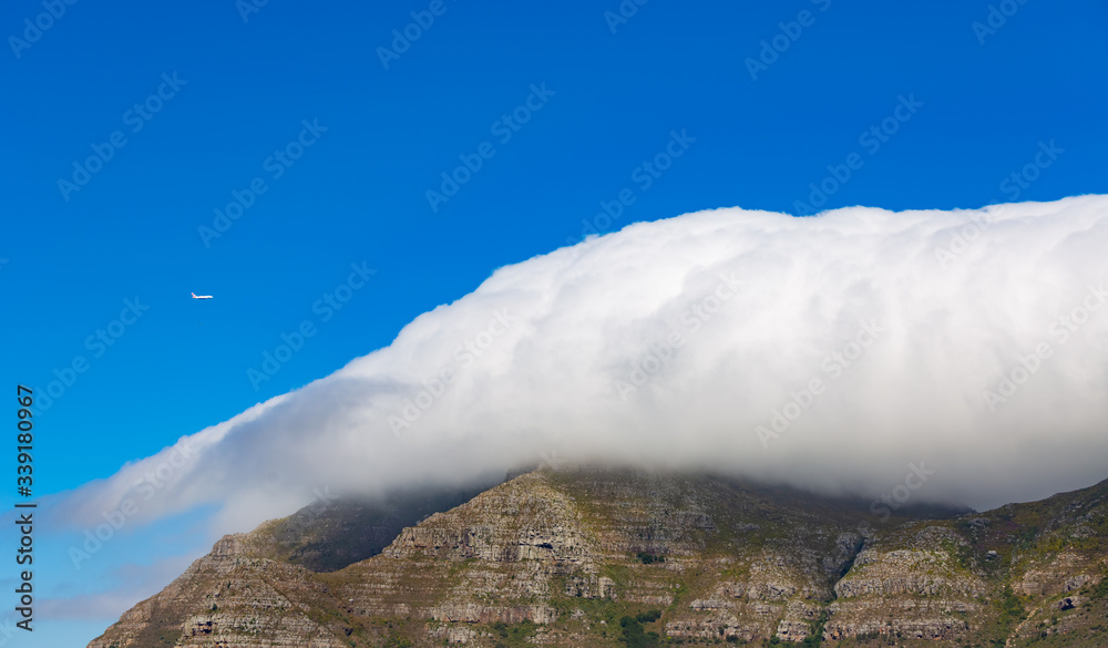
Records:
[[[620,20],[615,0],[243,4],[0,10],[3,377],[59,381],[35,419],[37,495],[324,377],[589,226],[796,214],[837,174],[820,208],[1108,192],[1102,2],[653,0]],[[406,28],[421,33],[386,68]],[[1049,165],[1025,171],[1037,155]],[[66,189],[74,173],[88,182]],[[469,177],[429,200],[443,173]],[[206,238],[236,194],[240,217]],[[305,321],[302,348],[252,381]],[[94,590],[81,578],[44,574],[43,596]],[[111,620],[44,632],[84,641]]]

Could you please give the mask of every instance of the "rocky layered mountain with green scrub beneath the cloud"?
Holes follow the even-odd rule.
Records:
[[[1108,645],[1108,482],[883,522],[721,477],[536,471],[412,517],[338,503],[227,536],[90,648]]]

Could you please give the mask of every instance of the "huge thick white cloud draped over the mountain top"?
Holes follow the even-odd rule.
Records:
[[[219,503],[220,529],[245,529],[314,488],[553,456],[868,496],[923,462],[920,501],[1039,497],[1108,476],[1106,279],[1105,196],[636,224],[501,268],[388,348],[198,433],[188,456],[60,504],[103,522],[161,466],[135,516]]]

